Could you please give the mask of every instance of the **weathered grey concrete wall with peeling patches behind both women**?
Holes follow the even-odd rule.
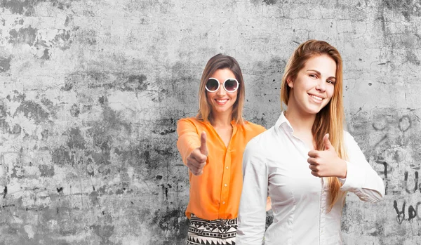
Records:
[[[421,244],[421,2],[1,0],[0,244],[184,244],[194,116],[216,53],[270,127],[290,53],[323,39],[345,62],[347,128],[385,180],[347,197],[345,244]]]

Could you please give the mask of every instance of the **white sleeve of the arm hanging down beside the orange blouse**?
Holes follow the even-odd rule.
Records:
[[[256,140],[250,140],[243,154],[243,192],[239,206],[237,245],[261,245],[265,237],[267,166]]]

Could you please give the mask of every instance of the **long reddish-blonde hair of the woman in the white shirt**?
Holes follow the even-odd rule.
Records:
[[[294,81],[300,69],[305,66],[305,62],[309,58],[314,57],[314,55],[328,55],[336,63],[336,81],[333,96],[328,104],[316,114],[316,119],[312,126],[315,147],[316,150],[325,150],[323,136],[329,133],[330,143],[332,143],[338,156],[341,159],[347,159],[343,138],[345,115],[342,101],[342,58],[336,48],[326,41],[318,40],[309,40],[300,44],[286,64],[281,83],[281,100],[288,106],[290,87],[287,79]],[[328,211],[330,211],[341,194],[341,183],[336,177],[329,177],[328,182],[330,194]]]

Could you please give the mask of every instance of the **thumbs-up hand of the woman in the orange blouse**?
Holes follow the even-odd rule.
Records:
[[[206,133],[200,135],[200,147],[197,147],[187,157],[187,167],[195,175],[200,176],[208,159],[208,147],[206,146]]]

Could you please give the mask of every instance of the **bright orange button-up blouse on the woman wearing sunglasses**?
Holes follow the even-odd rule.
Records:
[[[243,125],[232,121],[232,138],[228,147],[209,122],[194,117],[180,119],[177,123],[178,141],[182,161],[200,147],[201,132],[206,132],[208,160],[201,176],[189,171],[190,200],[187,218],[194,213],[206,220],[233,219],[238,215],[243,187],[243,152],[249,140],[265,128],[245,121]]]

